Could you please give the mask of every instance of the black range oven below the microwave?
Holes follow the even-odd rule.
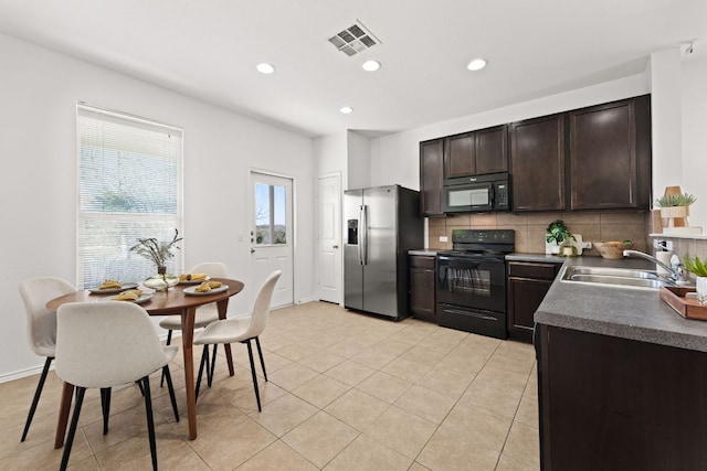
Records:
[[[436,257],[436,318],[443,327],[507,338],[505,255],[510,229],[455,229],[452,250]]]

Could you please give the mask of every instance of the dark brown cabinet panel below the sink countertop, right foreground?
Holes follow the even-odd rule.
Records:
[[[538,325],[549,470],[707,469],[707,353]]]

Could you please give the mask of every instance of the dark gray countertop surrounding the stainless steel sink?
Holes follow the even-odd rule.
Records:
[[[566,264],[655,269],[637,258],[577,257]],[[566,282],[561,275],[536,311],[537,323],[707,352],[707,322],[682,318],[657,290]]]

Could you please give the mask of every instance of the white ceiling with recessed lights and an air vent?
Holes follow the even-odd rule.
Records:
[[[327,39],[356,20],[381,44],[349,57]],[[692,40],[685,60],[704,57],[707,0],[0,0],[0,32],[309,136],[380,135],[633,75]]]

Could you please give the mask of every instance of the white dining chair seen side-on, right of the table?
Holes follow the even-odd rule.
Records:
[[[273,299],[273,291],[277,279],[282,275],[282,271],[277,270],[272,272],[261,289],[258,290],[255,302],[253,303],[253,310],[251,315],[222,319],[210,323],[207,328],[194,336],[194,345],[204,345],[204,351],[201,356],[201,364],[199,365],[199,376],[197,378],[197,392],[199,397],[199,387],[201,385],[201,376],[203,368],[209,357],[209,345],[215,345],[223,343],[230,344],[235,342],[245,343],[247,345],[247,355],[251,361],[251,375],[253,376],[253,387],[255,388],[255,399],[257,400],[257,410],[261,411],[261,395],[257,387],[257,376],[255,375],[255,363],[253,362],[253,349],[251,341],[255,341],[257,346],[257,354],[261,358],[261,366],[263,368],[263,376],[267,382],[267,372],[265,371],[265,361],[263,360],[263,351],[261,350],[260,335],[265,330],[267,324],[267,318],[270,315],[270,304]],[[207,376],[213,377],[213,362],[211,363],[211,371],[207,366]]]

